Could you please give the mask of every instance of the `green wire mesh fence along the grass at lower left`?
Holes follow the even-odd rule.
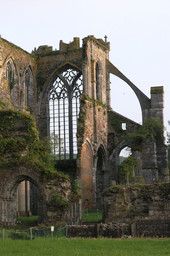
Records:
[[[29,228],[25,230],[0,230],[0,239],[11,238],[33,240],[40,237],[67,237],[67,225],[63,228],[49,227],[44,229]]]

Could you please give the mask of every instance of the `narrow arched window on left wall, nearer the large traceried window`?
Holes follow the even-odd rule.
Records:
[[[32,105],[32,74],[29,69],[25,72],[25,106]]]

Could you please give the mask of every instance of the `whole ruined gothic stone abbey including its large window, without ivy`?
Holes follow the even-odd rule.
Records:
[[[105,222],[170,218],[169,183],[161,185],[169,182],[163,131],[159,137],[145,137],[140,150],[134,147],[127,134],[135,133],[141,125],[111,108],[109,74],[132,88],[143,121],[153,118],[164,125],[164,89],[151,87],[148,98],[109,61],[109,51],[107,37],[103,41],[93,35],[82,39],[81,47],[79,37],[74,37],[69,44],[60,40],[59,50],[42,45],[32,54],[0,38],[1,112],[33,115],[39,137],[51,140],[55,167],[70,177],[44,180],[27,164],[1,168],[1,223],[14,224],[18,215],[30,212],[38,214],[39,222],[71,222],[85,208],[102,209]],[[21,119],[10,137],[20,136],[24,129]],[[122,183],[126,186],[119,187],[119,154],[127,146],[138,164]],[[74,180],[81,194],[76,202],[74,197],[69,199]],[[51,191],[70,200],[70,207],[50,206]]]

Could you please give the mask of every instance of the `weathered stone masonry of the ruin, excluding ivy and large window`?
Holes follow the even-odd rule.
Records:
[[[69,173],[72,181],[75,178],[79,181],[81,204],[76,205],[72,202],[72,208],[69,211],[66,209],[63,213],[60,209],[58,212],[55,211],[47,203],[50,190],[58,191],[67,200],[71,193],[69,181],[52,179],[46,184],[34,169],[15,166],[0,173],[1,222],[15,222],[16,188],[24,180],[32,182],[38,189],[39,221],[75,220],[78,216],[81,217],[80,205],[82,208],[89,209],[103,207],[103,218],[106,222],[128,223],[141,219],[141,216],[146,219],[150,217],[161,219],[162,216],[166,216],[166,219],[169,219],[166,211],[169,209],[169,199],[167,199],[169,184],[147,185],[140,188],[114,187],[106,190],[108,195],[105,194],[105,203],[102,204],[103,191],[113,184],[118,184],[117,171],[121,150],[126,146],[132,146],[128,143],[126,135],[140,128],[139,124],[114,112],[110,107],[109,74],[118,76],[133,89],[141,105],[143,120],[153,117],[164,124],[163,87],[151,87],[151,98],[148,98],[109,61],[109,51],[110,43],[106,38],[103,41],[96,39],[93,35],[82,39],[82,47],[80,47],[79,38],[74,37],[74,41],[70,44],[63,43],[61,40],[59,50],[43,45],[38,49],[35,48],[32,54],[0,38],[0,100],[3,110],[13,109],[27,114],[32,112],[37,121],[40,138],[50,135],[49,92],[57,76],[61,78],[62,72],[73,69],[76,74],[82,75],[83,87],[82,95],[79,95],[80,112],[77,120],[76,142],[74,142],[77,144],[77,157],[66,160],[61,158],[56,162],[58,170]],[[13,76],[8,74],[8,63],[13,70]],[[29,95],[27,95],[25,84],[27,71],[30,76]],[[70,136],[72,117],[69,118],[71,120],[68,128]],[[126,123],[126,131],[122,129],[122,123]],[[59,126],[54,124],[56,127],[57,125]],[[71,142],[69,143],[70,147]],[[155,140],[151,136],[148,137],[142,144],[142,150],[132,150],[132,155],[138,161],[138,166],[134,169],[134,177],[129,178],[129,184],[169,181],[167,148],[163,139]],[[154,198],[151,199],[153,203],[148,201],[150,199],[146,202],[147,193],[150,190],[152,192],[153,187],[155,188]],[[141,193],[141,197],[138,193]],[[163,196],[160,193],[163,193]],[[132,200],[131,194],[137,197]],[[160,203],[156,197],[166,202]],[[133,204],[132,201],[135,203]],[[110,205],[112,205],[111,208]],[[164,211],[161,210],[162,207]],[[133,212],[128,212],[132,210]],[[141,213],[140,217],[134,215],[135,211]]]

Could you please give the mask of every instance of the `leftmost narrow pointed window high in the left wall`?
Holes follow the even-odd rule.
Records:
[[[14,103],[14,86],[15,86],[15,78],[14,78],[14,65],[11,60],[8,61],[6,65],[6,79],[8,80],[9,90],[10,90],[10,99]]]

